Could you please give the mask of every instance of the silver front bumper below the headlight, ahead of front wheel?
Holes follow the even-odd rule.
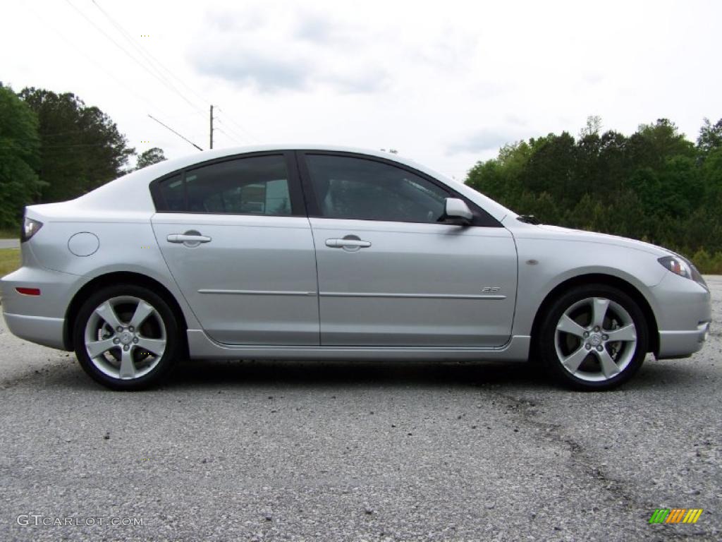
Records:
[[[686,358],[700,350],[712,321],[710,291],[669,272],[651,292],[659,330],[656,358]]]

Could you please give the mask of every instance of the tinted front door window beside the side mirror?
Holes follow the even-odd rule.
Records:
[[[449,194],[387,163],[335,155],[306,155],[318,209],[325,218],[436,223]]]

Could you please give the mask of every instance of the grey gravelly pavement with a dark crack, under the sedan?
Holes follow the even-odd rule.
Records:
[[[238,361],[117,393],[2,324],[0,540],[717,541],[709,282],[700,353],[594,394],[523,365]],[[659,507],[704,512],[649,525]]]

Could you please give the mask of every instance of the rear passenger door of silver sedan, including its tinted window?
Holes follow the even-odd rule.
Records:
[[[163,257],[212,339],[318,345],[316,257],[293,153],[205,163],[152,191]]]

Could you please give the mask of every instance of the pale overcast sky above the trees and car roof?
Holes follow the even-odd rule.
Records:
[[[207,148],[214,104],[214,147],[392,147],[461,180],[589,115],[696,139],[722,117],[721,20],[715,0],[25,0],[2,7],[0,81],[76,93],[137,152],[196,152],[148,114]]]

